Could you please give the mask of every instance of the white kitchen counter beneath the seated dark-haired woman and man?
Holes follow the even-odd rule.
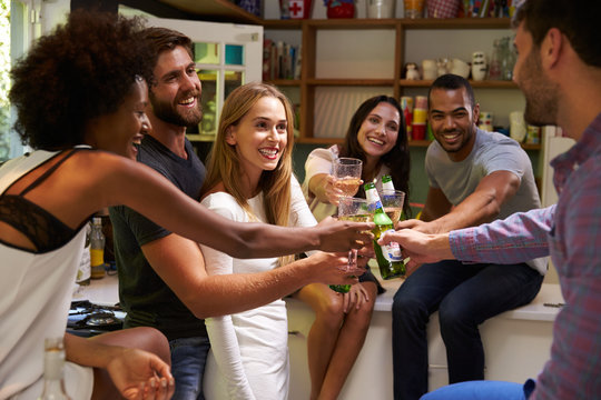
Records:
[[[380,272],[372,268],[380,278]],[[365,344],[339,396],[345,400],[392,399],[392,302],[402,279],[381,280],[386,289],[377,297]],[[486,320],[480,329],[486,354],[485,379],[523,382],[535,378],[550,357],[553,321],[561,304],[559,284],[545,283],[526,306]],[[286,298],[290,354],[289,400],[307,399],[311,379],[306,339],[315,319],[313,310],[297,299]],[[446,351],[435,312],[427,327],[428,389],[447,384]],[[365,384],[368,379],[370,384]]]

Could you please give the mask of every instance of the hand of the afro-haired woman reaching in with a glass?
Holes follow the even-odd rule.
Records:
[[[323,251],[346,251],[361,249],[373,240],[373,222],[337,221],[327,217],[317,224],[321,229],[319,249]]]

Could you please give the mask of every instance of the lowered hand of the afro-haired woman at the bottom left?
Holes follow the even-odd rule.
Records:
[[[121,396],[129,400],[168,400],[175,392],[169,366],[144,350],[124,349],[107,370]]]

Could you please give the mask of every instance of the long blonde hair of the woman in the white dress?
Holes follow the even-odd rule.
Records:
[[[290,102],[272,84],[252,82],[236,88],[224,102],[217,137],[207,158],[207,176],[201,194],[223,182],[225,190],[250,216],[254,216],[246,197],[242,192],[242,171],[235,146],[226,141],[229,127],[237,126],[256,102],[264,97],[278,99],[286,111],[287,143],[275,170],[263,171],[258,189],[264,194],[265,216],[268,223],[287,227],[290,213],[292,150],[294,147],[294,113]]]

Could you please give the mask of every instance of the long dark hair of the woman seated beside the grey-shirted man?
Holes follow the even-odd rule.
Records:
[[[405,202],[403,204],[403,212],[406,217],[411,216],[410,207],[410,169],[411,169],[411,158],[407,143],[407,133],[405,131],[405,119],[403,117],[403,110],[401,104],[396,99],[388,96],[376,96],[365,100],[355,111],[353,118],[351,118],[351,123],[348,124],[348,130],[346,131],[346,137],[341,147],[339,156],[341,157],[353,157],[365,162],[365,151],[361,147],[357,134],[361,129],[363,121],[370,116],[373,109],[377,107],[381,102],[385,102],[394,107],[398,114],[401,116],[401,121],[398,124],[398,137],[396,143],[386,154],[382,156],[382,163],[391,169],[391,177],[393,179],[394,188],[396,190],[402,190],[405,192]],[[365,180],[365,177],[362,177]],[[363,197],[365,193],[363,188],[359,188],[357,196]]]

